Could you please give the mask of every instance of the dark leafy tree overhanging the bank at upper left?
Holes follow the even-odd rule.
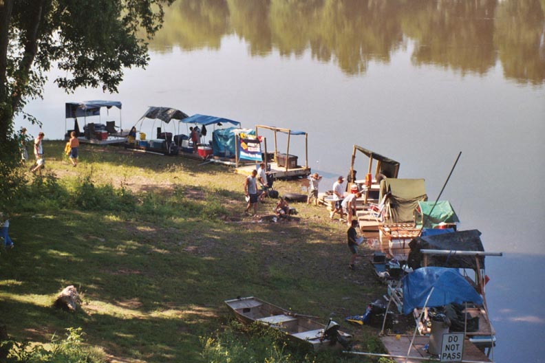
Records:
[[[78,87],[117,91],[124,68],[147,65],[147,40],[172,1],[0,0],[2,166],[11,169],[10,159],[17,157],[14,115],[41,96],[47,71],[63,71],[55,82],[68,92]]]

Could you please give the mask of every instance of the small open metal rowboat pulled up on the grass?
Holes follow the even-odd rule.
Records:
[[[254,298],[237,298],[225,301],[227,307],[239,322],[259,322],[288,334],[290,340],[306,344],[314,351],[325,349],[350,349],[350,334],[339,331],[339,325],[330,320],[323,325],[310,316],[294,314],[291,311]]]

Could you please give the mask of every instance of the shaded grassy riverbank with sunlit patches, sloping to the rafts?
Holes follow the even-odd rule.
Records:
[[[363,259],[348,270],[346,226],[325,208],[296,203],[300,221],[259,221],[244,216],[244,176],[232,168],[89,145],[73,168],[62,151],[45,142],[44,176],[28,176],[10,211],[15,248],[0,254],[0,305],[15,340],[81,327],[113,362],[204,362],[201,338],[228,325],[223,301],[258,296],[331,316],[359,350],[378,344],[373,329],[343,320],[384,287]],[[51,307],[67,285],[82,294],[74,314]]]

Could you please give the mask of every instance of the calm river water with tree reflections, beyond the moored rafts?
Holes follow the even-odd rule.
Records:
[[[425,178],[431,200],[462,151],[441,199],[504,252],[487,259],[494,358],[545,361],[545,1],[177,1],[150,47],[119,94],[64,94],[53,71],[25,111],[51,139],[65,102],[92,99],[120,100],[124,128],[168,106],[303,129],[324,190],[358,144]]]

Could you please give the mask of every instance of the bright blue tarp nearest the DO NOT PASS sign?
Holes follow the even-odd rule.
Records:
[[[450,303],[475,303],[482,305],[482,297],[469,285],[456,269],[422,267],[403,277],[403,314],[424,307],[426,298],[434,287],[427,307],[440,307]]]

